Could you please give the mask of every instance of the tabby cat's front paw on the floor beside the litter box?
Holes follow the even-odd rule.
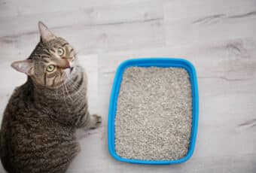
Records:
[[[102,117],[97,114],[90,115],[87,111],[85,116],[81,117],[80,122],[78,123],[78,128],[84,129],[96,129],[102,123]]]

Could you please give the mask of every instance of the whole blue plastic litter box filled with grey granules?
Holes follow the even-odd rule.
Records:
[[[190,68],[182,59],[133,59],[121,65],[108,121],[108,147],[115,159],[170,164],[192,155],[198,96]]]

